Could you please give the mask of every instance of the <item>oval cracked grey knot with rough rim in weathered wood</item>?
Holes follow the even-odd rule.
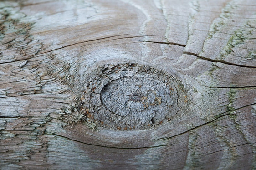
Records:
[[[180,80],[134,63],[98,67],[87,77],[87,121],[111,130],[147,130],[184,114],[190,100]]]

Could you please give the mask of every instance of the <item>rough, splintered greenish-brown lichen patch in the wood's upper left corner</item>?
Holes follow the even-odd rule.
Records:
[[[26,20],[19,8],[11,5],[0,8],[1,62],[27,59],[41,50],[42,43],[31,34],[34,24]]]

